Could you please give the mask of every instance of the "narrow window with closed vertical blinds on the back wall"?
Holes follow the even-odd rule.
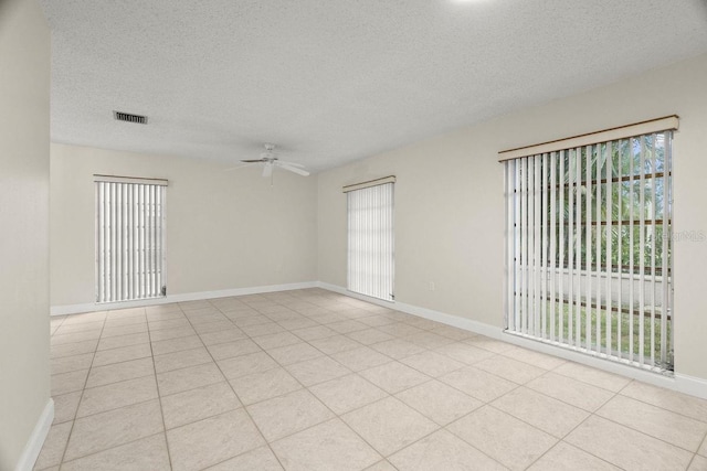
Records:
[[[166,180],[94,175],[96,302],[167,295]]]

